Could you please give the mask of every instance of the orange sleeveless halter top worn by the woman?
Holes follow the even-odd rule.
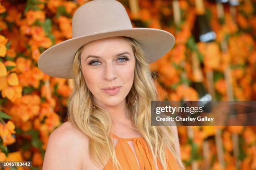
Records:
[[[154,165],[153,155],[143,137],[120,138],[111,132],[110,135],[118,140],[118,143],[115,145],[115,153],[124,170],[157,170]],[[133,141],[139,165],[127,141]],[[180,170],[176,159],[169,149],[166,152],[166,162],[167,170]],[[159,170],[164,170],[158,158],[157,165]],[[114,169],[112,160],[109,160],[102,170],[117,170],[117,168],[115,167]]]

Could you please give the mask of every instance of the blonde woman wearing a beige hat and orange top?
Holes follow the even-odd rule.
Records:
[[[151,126],[158,95],[148,63],[172,48],[172,34],[132,28],[115,0],[82,5],[72,31],[38,60],[46,74],[74,79],[69,120],[51,133],[43,170],[184,169],[177,127]]]

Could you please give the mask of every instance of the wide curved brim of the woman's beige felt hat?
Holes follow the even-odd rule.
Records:
[[[175,43],[171,33],[155,28],[130,28],[94,33],[71,38],[46,49],[38,59],[38,67],[49,76],[73,79],[73,61],[77,50],[91,41],[115,36],[127,36],[136,40],[143,48],[148,63],[164,56]]]

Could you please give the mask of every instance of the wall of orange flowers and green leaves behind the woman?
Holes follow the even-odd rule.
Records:
[[[72,15],[86,2],[0,0],[0,161],[32,161],[31,169],[41,169],[49,135],[65,121],[72,80],[44,74],[37,61],[72,38]],[[215,100],[256,99],[255,0],[119,2],[133,27],[167,30],[176,38],[174,48],[151,64],[161,100],[199,100],[205,92]],[[199,14],[215,36],[210,43],[197,40]],[[178,131],[187,169],[256,169],[253,126]]]

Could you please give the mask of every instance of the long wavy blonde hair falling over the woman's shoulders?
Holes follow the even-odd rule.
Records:
[[[131,110],[131,121],[143,136],[156,160],[159,157],[164,170],[167,170],[166,151],[167,147],[176,157],[179,166],[184,169],[182,161],[174,148],[174,137],[172,130],[166,126],[168,134],[158,126],[151,126],[151,100],[159,99],[154,80],[151,77],[149,64],[141,46],[129,37],[123,37],[133,48],[136,58],[133,86],[126,96],[126,107]],[[96,106],[92,100],[92,93],[88,89],[81,67],[80,54],[83,50],[79,48],[74,56],[73,73],[74,89],[69,97],[68,117],[69,120],[84,134],[89,137],[90,157],[95,165],[103,165],[109,158],[115,167],[123,170],[115,155],[115,146],[110,137],[112,121],[110,114],[102,107]],[[135,105],[135,96],[137,100]],[[96,108],[94,108],[94,106]],[[99,163],[100,162],[100,163]]]

